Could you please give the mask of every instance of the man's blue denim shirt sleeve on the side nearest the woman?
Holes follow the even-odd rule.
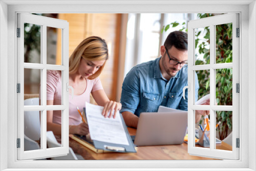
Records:
[[[136,67],[126,75],[122,85],[122,112],[135,113],[140,102],[140,77]]]

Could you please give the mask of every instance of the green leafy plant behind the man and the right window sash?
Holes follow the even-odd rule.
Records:
[[[198,18],[213,16],[212,14],[198,14]],[[162,28],[167,31],[170,27],[177,27],[178,22],[171,23]],[[186,31],[185,23],[180,31]],[[195,30],[196,65],[210,63],[210,30],[209,27]],[[202,57],[203,56],[203,57]],[[232,23],[216,26],[216,63],[232,62]],[[210,72],[208,70],[196,71],[199,81],[198,99],[210,91]],[[232,105],[232,69],[216,70],[216,102],[218,105]],[[227,137],[232,131],[232,112],[216,111],[216,122],[221,121],[218,126],[218,134],[221,140]],[[202,122],[202,120],[201,120]]]

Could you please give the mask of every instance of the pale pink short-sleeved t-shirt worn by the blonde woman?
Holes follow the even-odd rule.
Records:
[[[97,90],[103,90],[100,79],[97,77],[93,80],[86,79],[87,87],[81,95],[69,94],[69,124],[78,125],[82,119],[77,111],[76,106],[82,112],[85,108],[86,101],[90,102],[90,94]],[[65,84],[66,86],[66,84]],[[54,100],[53,105],[61,104],[61,75],[58,71],[47,71],[47,100]],[[65,88],[66,90],[66,88]],[[53,123],[61,124],[61,111],[53,111]]]

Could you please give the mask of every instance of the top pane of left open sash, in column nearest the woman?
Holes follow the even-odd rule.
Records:
[[[61,50],[57,51],[57,44],[61,48],[62,29],[47,27],[47,64],[61,65]]]

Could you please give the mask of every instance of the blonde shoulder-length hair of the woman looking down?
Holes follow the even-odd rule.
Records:
[[[80,44],[76,47],[74,52],[71,54],[69,58],[69,74],[74,74],[77,72],[81,58],[96,61],[96,60],[106,60],[109,58],[108,46],[104,39],[98,36],[90,36],[84,39]],[[93,75],[88,77],[89,79],[97,78],[101,71],[105,66],[105,62],[103,65],[95,72]]]

